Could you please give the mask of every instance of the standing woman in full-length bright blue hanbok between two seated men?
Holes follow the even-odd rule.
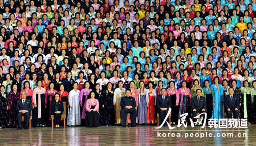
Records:
[[[211,85],[213,92],[213,112],[212,112],[212,119],[222,118],[222,103],[223,103],[223,87],[219,84],[219,78],[214,78],[214,84]]]

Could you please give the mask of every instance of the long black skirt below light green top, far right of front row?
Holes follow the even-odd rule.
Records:
[[[242,98],[242,100],[244,100],[244,98]],[[246,102],[248,122],[252,123],[253,122],[252,121],[253,111],[252,111],[252,96],[251,96],[251,94],[246,94],[246,101],[243,101],[242,105],[240,106],[241,118],[244,118],[244,102]]]

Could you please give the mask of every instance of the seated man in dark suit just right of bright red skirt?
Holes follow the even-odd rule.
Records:
[[[166,89],[161,89],[161,94],[157,96],[157,110],[161,119],[161,123],[164,122],[164,119],[168,113],[169,107],[172,106],[172,100],[169,96],[166,95]],[[164,123],[163,126],[166,126],[167,123]]]

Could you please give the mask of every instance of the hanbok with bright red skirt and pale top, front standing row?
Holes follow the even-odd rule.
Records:
[[[155,89],[148,89],[148,108],[147,108],[147,124],[156,124],[157,119],[155,117],[155,101],[157,99],[157,94]]]

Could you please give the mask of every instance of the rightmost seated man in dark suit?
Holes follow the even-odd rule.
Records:
[[[237,95],[234,95],[234,89],[229,88],[229,95],[225,96],[225,110],[227,113],[227,118],[232,118],[232,114],[234,114],[234,118],[238,118],[238,107],[239,107],[239,98]]]

